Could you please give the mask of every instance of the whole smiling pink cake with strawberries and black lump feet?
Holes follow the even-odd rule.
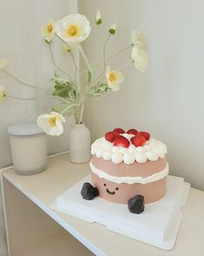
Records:
[[[166,194],[167,147],[148,132],[115,128],[92,143],[91,153],[92,184],[82,187],[84,199],[99,196],[142,213],[144,204]]]

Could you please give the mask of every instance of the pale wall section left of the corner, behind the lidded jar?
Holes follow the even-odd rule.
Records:
[[[48,82],[54,75],[48,46],[41,39],[41,25],[50,16],[55,20],[72,12],[70,5],[74,0],[8,0],[0,1],[0,57],[8,59],[6,69],[25,82],[37,84],[52,91],[53,83]],[[74,10],[75,11],[75,10]],[[54,43],[56,62],[62,69],[68,70],[69,57],[61,52],[61,45]],[[18,82],[0,72],[0,83],[8,94],[24,97],[41,96],[40,91],[23,87]],[[45,94],[46,96],[47,94]],[[0,102],[0,168],[11,164],[10,143],[7,135],[8,126],[21,122],[35,121],[41,113],[50,111],[57,102],[37,101],[20,102],[5,99]],[[73,119],[67,119],[64,135],[49,137],[49,154],[67,150],[67,133]],[[3,235],[3,214],[0,195],[0,255],[6,255]]]

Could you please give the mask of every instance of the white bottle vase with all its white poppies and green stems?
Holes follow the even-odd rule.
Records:
[[[99,11],[96,15],[96,26],[99,30],[103,21]],[[53,106],[52,111],[48,114],[39,115],[37,124],[48,135],[61,135],[63,133],[63,123],[66,121],[65,117],[68,115],[75,116],[75,126],[69,133],[69,150],[70,161],[85,162],[90,160],[90,131],[86,128],[83,122],[83,112],[85,102],[88,98],[93,96],[104,95],[106,92],[118,91],[120,84],[124,82],[124,75],[120,71],[128,63],[133,63],[135,67],[142,71],[146,69],[148,64],[148,57],[144,50],[143,35],[140,31],[131,31],[131,43],[124,49],[119,50],[112,56],[106,56],[106,47],[110,38],[117,32],[117,25],[115,23],[107,30],[107,36],[102,43],[99,33],[99,56],[96,64],[92,67],[86,53],[81,46],[81,43],[86,40],[91,31],[91,26],[86,16],[80,14],[70,14],[63,17],[61,20],[54,22],[49,19],[42,29],[42,35],[51,55],[51,60],[54,64],[54,92],[49,97],[53,97],[60,101],[60,104]],[[63,49],[67,52],[73,61],[74,74],[71,75],[62,70],[54,60],[52,49],[52,42],[60,40],[63,43]],[[127,49],[131,49],[130,61],[123,64],[118,69],[112,69],[109,62],[115,56],[120,55]],[[80,70],[78,56],[81,56],[85,68]],[[33,89],[41,89],[35,85],[22,82],[21,79],[11,74],[5,69],[6,59],[0,59],[0,69],[7,75],[10,75],[16,81],[21,82],[24,86],[29,86]],[[99,70],[100,69],[100,70]],[[81,77],[86,75],[86,79]],[[44,90],[44,89],[41,89]],[[34,98],[22,99],[15,95],[7,95],[6,89],[0,85],[0,100],[5,97],[10,97],[20,100],[35,100]]]

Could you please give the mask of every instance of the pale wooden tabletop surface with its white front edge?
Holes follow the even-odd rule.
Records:
[[[12,168],[3,171],[4,178],[34,201],[69,233],[72,233],[92,253],[117,256],[133,255],[134,252],[143,256],[202,255],[204,192],[190,188],[187,204],[182,208],[182,223],[175,241],[175,248],[171,251],[163,251],[121,234],[113,233],[105,226],[78,220],[48,207],[56,197],[87,174],[90,174],[88,163],[73,164],[68,161],[68,154],[49,158],[48,168],[41,174],[23,176],[16,174]]]

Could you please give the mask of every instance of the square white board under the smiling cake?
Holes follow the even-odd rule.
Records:
[[[113,232],[164,250],[174,247],[182,220],[181,207],[186,204],[189,183],[180,177],[168,175],[167,194],[163,199],[145,205],[143,213],[134,214],[129,212],[126,205],[112,203],[100,197],[83,200],[80,195],[81,187],[90,181],[91,176],[86,176],[61,194],[49,207],[80,220],[98,222]]]

